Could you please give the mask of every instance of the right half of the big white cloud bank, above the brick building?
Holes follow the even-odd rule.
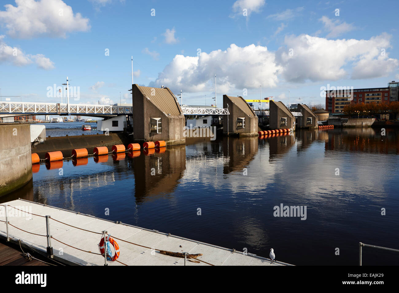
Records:
[[[388,58],[388,53],[381,55],[381,48],[391,47],[390,38],[386,33],[369,40],[291,35],[285,37],[286,48],[277,51],[276,59],[290,82],[381,77],[398,66],[398,60]]]

